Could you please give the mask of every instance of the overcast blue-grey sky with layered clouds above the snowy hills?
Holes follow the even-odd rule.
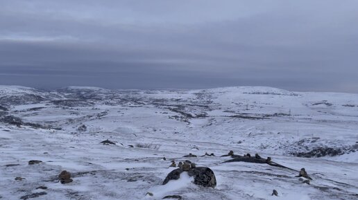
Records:
[[[358,93],[358,1],[0,1],[0,84]]]

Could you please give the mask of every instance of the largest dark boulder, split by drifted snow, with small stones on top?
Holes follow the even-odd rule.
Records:
[[[163,181],[163,185],[171,180],[178,180],[180,174],[185,172],[182,168],[171,171]],[[214,188],[216,186],[216,177],[214,172],[209,167],[195,167],[187,171],[189,176],[194,176],[194,183],[204,187]]]

